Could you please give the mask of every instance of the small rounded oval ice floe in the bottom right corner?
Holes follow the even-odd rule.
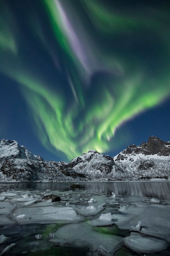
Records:
[[[139,253],[153,253],[165,250],[168,244],[160,239],[143,236],[128,236],[124,238],[124,245]]]

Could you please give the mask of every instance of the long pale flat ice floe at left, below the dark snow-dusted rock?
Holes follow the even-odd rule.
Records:
[[[69,223],[73,221],[82,221],[84,218],[77,215],[71,207],[24,207],[15,209],[11,218],[20,224],[28,223]]]

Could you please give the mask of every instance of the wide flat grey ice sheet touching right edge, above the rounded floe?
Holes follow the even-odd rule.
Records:
[[[141,233],[161,238],[170,243],[170,204],[146,204],[135,202],[134,205],[120,207],[118,214],[113,214],[113,221],[120,229],[131,229],[141,221]]]

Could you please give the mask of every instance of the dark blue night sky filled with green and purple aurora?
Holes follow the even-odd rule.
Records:
[[[168,0],[0,0],[0,139],[46,160],[170,141]]]

